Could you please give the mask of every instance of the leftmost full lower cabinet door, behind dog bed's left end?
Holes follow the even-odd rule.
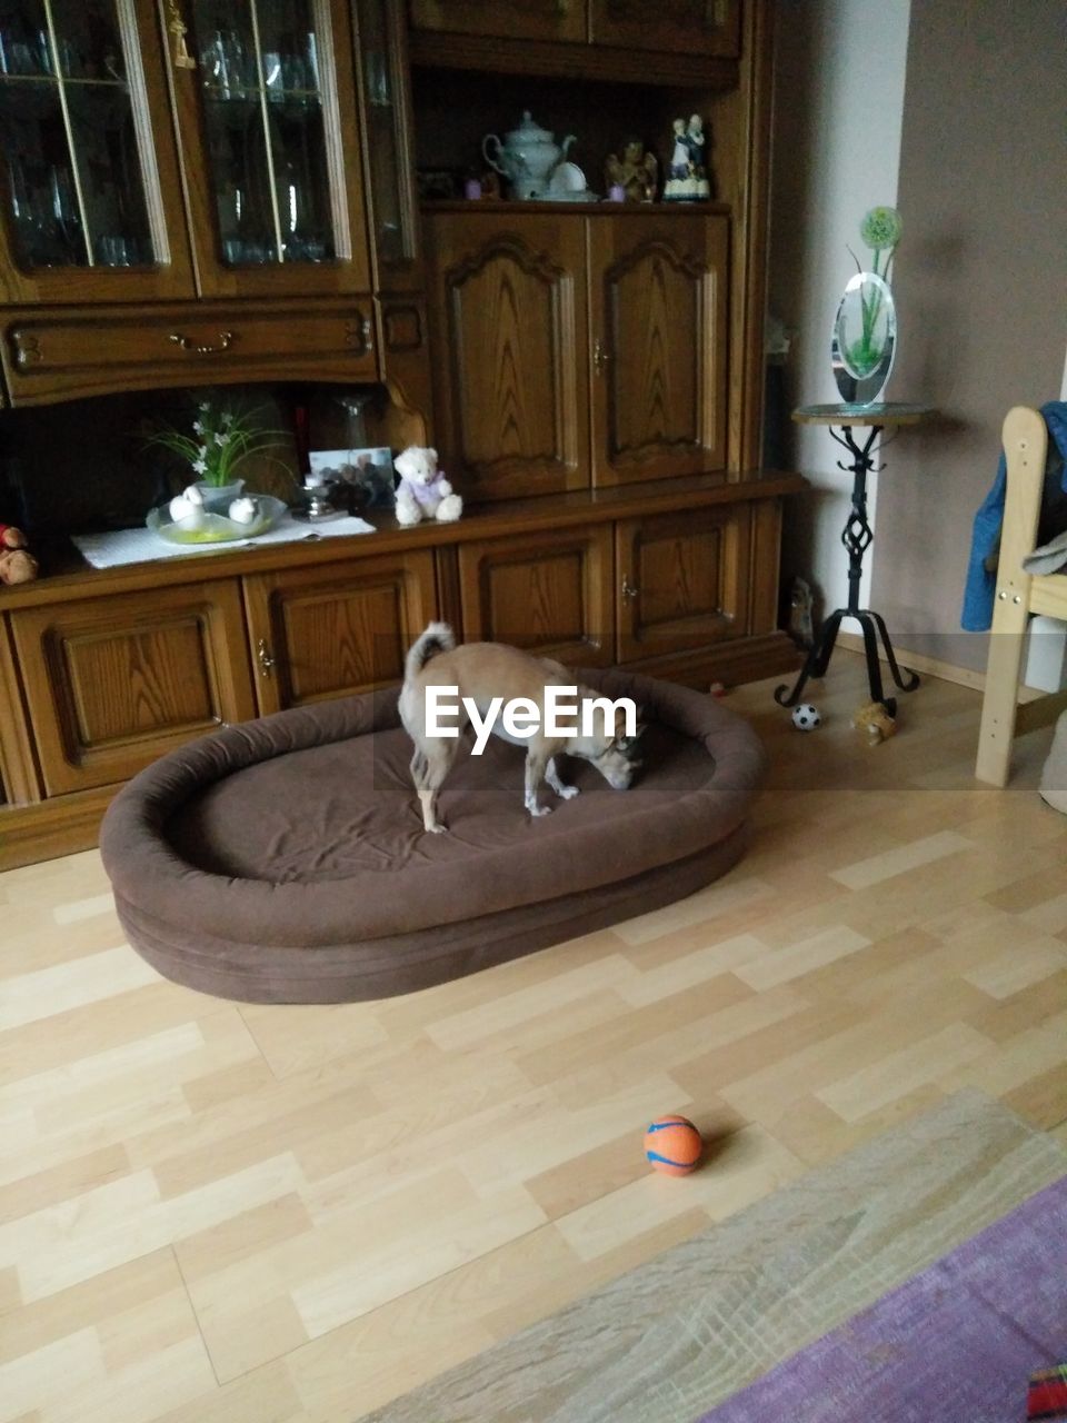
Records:
[[[236,581],[11,612],[48,795],[125,781],[255,716]]]

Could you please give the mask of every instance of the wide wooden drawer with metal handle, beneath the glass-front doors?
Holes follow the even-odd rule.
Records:
[[[13,404],[258,376],[377,377],[370,297],[292,310],[182,305],[144,314],[16,312],[3,330]]]

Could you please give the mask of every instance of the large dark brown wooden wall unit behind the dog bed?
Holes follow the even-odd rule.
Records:
[[[74,0],[51,3],[60,34]],[[33,128],[0,154],[4,394],[48,407],[377,381],[376,434],[435,444],[464,518],[381,515],[373,535],[216,552],[209,569],[92,572],[60,555],[0,591],[0,868],[92,844],[124,781],[189,737],[398,680],[432,618],[693,686],[795,665],[778,539],[802,481],[758,472],[773,0],[663,0],[654,16],[630,0],[293,4],[316,37],[303,91],[262,37],[236,81],[203,0],[188,0],[193,67],[151,0],[115,0],[121,43],[77,63],[90,98],[98,85],[115,112],[129,105],[129,203],[95,151],[47,201],[20,159]],[[74,78],[40,75],[40,102],[74,102]],[[13,84],[0,74],[0,110]],[[506,91],[516,121],[526,84],[546,108],[582,91],[586,142],[605,152],[635,125],[666,135],[703,114],[716,201],[420,212],[420,145],[465,165],[481,131],[462,100],[481,114]],[[275,186],[260,174],[256,208],[238,118],[252,148],[276,135],[273,158],[320,137],[313,201],[263,157]],[[125,236],[108,226],[120,211]]]

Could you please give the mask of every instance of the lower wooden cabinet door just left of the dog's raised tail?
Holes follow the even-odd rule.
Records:
[[[404,676],[437,610],[430,551],[245,579],[262,713],[353,696]]]

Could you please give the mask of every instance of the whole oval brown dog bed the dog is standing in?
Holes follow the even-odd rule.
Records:
[[[100,848],[129,942],[166,978],[258,1003],[388,998],[670,904],[744,850],[763,750],[711,697],[583,672],[643,709],[644,771],[531,818],[519,747],[461,756],[423,830],[396,690],[280,712],[172,751]]]

